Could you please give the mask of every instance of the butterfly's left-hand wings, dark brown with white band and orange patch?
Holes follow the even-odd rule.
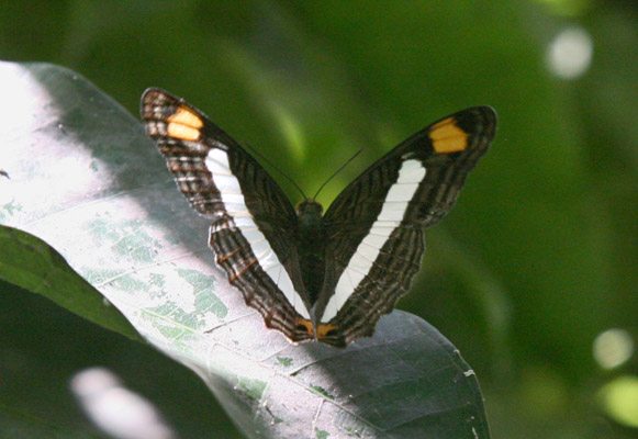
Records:
[[[231,136],[183,99],[148,89],[142,97],[142,119],[179,190],[213,221],[210,246],[228,281],[268,327],[293,341],[310,339],[296,215],[283,191]]]

